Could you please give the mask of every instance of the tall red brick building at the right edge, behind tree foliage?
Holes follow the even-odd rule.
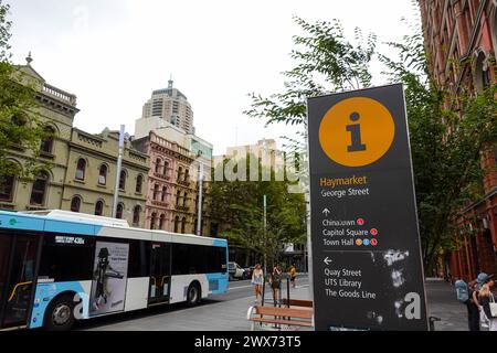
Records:
[[[497,0],[420,0],[432,77],[454,95],[477,93],[497,82]],[[497,272],[497,147],[482,151],[483,201],[458,221],[462,243],[447,255],[444,272],[474,279]]]

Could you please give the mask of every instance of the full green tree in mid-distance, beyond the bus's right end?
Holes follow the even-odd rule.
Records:
[[[247,165],[246,160],[239,161],[239,165]],[[262,180],[261,164],[258,171]],[[230,225],[225,235],[231,246],[254,252],[261,259],[266,258],[267,265],[279,260],[283,244],[306,242],[304,196],[289,193],[288,182],[274,181],[274,171],[271,175],[272,181],[223,180],[212,182],[209,188],[211,217]],[[266,227],[264,195],[267,197]]]

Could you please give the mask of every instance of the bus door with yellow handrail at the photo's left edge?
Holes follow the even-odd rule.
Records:
[[[24,327],[31,312],[39,238],[0,234],[0,328]]]

